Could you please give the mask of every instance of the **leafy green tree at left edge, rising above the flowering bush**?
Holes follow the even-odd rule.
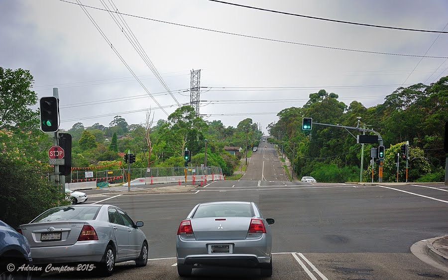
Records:
[[[37,103],[37,94],[30,90],[33,82],[28,70],[0,67],[0,128],[38,126],[38,111],[28,107]]]

